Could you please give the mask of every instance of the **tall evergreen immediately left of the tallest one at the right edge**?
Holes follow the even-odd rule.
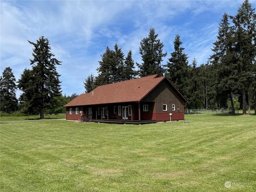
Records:
[[[229,16],[224,13],[219,23],[217,41],[214,42],[213,55],[210,59],[214,69],[217,70],[217,99],[220,107],[227,107],[227,100],[230,100],[232,114],[235,114],[233,94],[236,92],[236,55],[234,51],[233,30],[229,26]]]

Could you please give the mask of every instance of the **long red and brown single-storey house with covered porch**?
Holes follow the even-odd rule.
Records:
[[[106,123],[184,120],[186,99],[166,78],[151,75],[95,88],[66,107],[66,119]]]

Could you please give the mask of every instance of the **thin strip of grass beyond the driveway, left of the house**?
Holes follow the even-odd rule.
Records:
[[[0,121],[21,121],[21,120],[36,120],[39,119],[39,115],[29,115],[29,116],[0,116]],[[47,115],[44,116],[45,119],[56,119],[56,118],[66,118],[66,114],[58,115]]]

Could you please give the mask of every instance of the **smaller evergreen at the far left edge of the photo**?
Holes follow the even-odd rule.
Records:
[[[3,75],[0,77],[0,110],[11,113],[18,109],[18,100],[16,98],[15,77],[11,67],[6,67]]]

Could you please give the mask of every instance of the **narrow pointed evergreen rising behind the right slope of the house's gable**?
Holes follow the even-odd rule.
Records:
[[[187,54],[183,53],[184,48],[181,47],[182,42],[180,36],[176,35],[174,40],[174,52],[171,53],[171,58],[166,64],[167,77],[184,95],[189,96],[187,83],[189,79],[189,66]]]

